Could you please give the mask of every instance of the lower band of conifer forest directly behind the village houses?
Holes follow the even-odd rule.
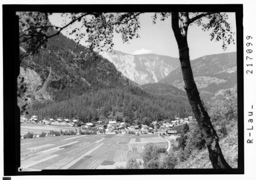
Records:
[[[67,93],[72,94],[72,89],[70,91]],[[63,92],[60,91],[60,93]],[[118,118],[122,121],[126,119],[127,122],[134,123],[136,113],[136,119],[139,123],[150,125],[156,119],[173,119],[176,112],[181,108],[185,116],[191,113],[189,105],[179,101],[180,99],[175,98],[175,96],[147,94],[136,87],[87,90],[83,95],[72,95],[68,99],[65,96],[58,95],[57,92],[55,94],[58,97],[56,103],[37,101],[28,108],[29,114],[39,114],[42,119],[50,117],[73,118],[77,116],[83,122],[97,121],[101,116],[102,118]],[[125,97],[127,98],[126,101]],[[109,107],[114,107],[119,111],[113,116],[112,108]]]

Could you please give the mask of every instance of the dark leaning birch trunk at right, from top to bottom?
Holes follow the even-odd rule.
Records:
[[[198,122],[199,128],[205,139],[209,158],[213,168],[231,168],[226,162],[220,145],[219,137],[214,130],[210,117],[205,110],[199,96],[198,88],[195,85],[193,73],[189,59],[189,48],[187,43],[187,30],[188,30],[188,13],[182,13],[184,19],[182,21],[183,27],[179,27],[179,13],[173,12],[171,15],[172,30],[179,47],[180,62],[182,68],[183,79],[185,83],[185,90],[187,92],[189,103],[192,111]]]

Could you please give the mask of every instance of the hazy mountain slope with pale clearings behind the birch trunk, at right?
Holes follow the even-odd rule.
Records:
[[[237,85],[237,53],[206,55],[191,61],[195,83],[205,103],[223,97],[224,90]],[[183,91],[181,68],[170,72],[160,83],[171,84]]]

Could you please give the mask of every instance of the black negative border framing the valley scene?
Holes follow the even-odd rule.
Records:
[[[19,32],[16,12],[235,12],[237,25],[238,168],[237,169],[77,169],[20,171],[21,128],[17,106]],[[243,174],[243,5],[3,5],[4,52],[4,175],[116,175],[116,174]],[[13,67],[15,68],[8,68]],[[15,113],[13,111],[15,110]],[[242,119],[242,120],[241,120]]]

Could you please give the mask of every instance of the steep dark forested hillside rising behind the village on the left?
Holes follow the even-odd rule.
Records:
[[[26,51],[26,46],[21,50]],[[18,102],[20,107],[28,104],[28,117],[116,119],[149,125],[157,119],[191,114],[183,94],[145,92],[107,59],[62,34],[23,60],[19,81],[24,81],[26,91],[19,89]]]

